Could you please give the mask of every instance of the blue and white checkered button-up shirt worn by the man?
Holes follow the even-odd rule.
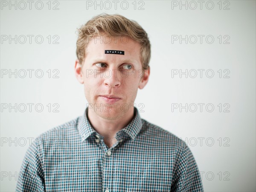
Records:
[[[202,192],[195,159],[175,135],[140,118],[111,148],[84,115],[41,134],[26,152],[18,192]]]

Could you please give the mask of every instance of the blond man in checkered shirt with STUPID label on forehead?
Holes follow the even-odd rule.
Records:
[[[203,191],[188,146],[134,108],[150,74],[142,27],[121,15],[96,16],[79,29],[76,53],[88,106],[33,143],[17,191]]]

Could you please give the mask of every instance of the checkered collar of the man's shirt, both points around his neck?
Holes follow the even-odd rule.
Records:
[[[91,126],[89,119],[87,117],[87,113],[88,113],[88,108],[85,109],[84,114],[80,116],[78,121],[78,131],[83,141],[86,140],[90,135],[97,133],[95,129]],[[137,134],[139,134],[142,128],[142,119],[140,118],[140,114],[137,108],[135,107],[134,107],[134,113],[135,113],[134,118],[125,128],[122,128],[122,130],[117,132],[116,137],[122,135],[122,133],[124,132],[128,134],[128,136],[131,137],[132,140],[134,140]]]

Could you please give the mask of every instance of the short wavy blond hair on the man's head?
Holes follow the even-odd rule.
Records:
[[[139,43],[141,53],[141,63],[144,70],[149,67],[150,42],[148,34],[134,20],[129,20],[122,15],[101,14],[93,17],[85,25],[78,29],[78,39],[76,41],[76,56],[79,63],[83,64],[88,38],[98,35],[109,35],[111,37],[127,36]]]

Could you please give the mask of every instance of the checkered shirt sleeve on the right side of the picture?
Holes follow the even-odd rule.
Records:
[[[177,154],[171,183],[171,192],[203,192],[198,166],[189,147],[184,143]]]

